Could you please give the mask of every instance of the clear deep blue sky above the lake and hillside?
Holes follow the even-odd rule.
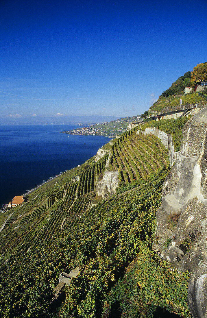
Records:
[[[143,113],[207,61],[206,0],[0,4],[0,118]]]

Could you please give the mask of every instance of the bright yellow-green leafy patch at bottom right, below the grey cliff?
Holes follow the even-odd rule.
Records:
[[[154,317],[162,308],[166,317],[169,313],[190,317],[186,303],[190,273],[175,271],[149,249],[148,243],[143,243],[143,252],[105,298],[103,316],[113,316],[119,308],[121,317]]]

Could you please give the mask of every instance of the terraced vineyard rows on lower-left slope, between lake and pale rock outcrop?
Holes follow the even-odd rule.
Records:
[[[0,233],[0,252],[5,253],[8,245],[17,254],[27,252],[33,245],[52,240],[65,227],[76,226],[96,195],[96,180],[105,169],[107,158],[98,162],[90,159],[79,168],[65,172],[52,180],[50,187],[44,184],[42,191],[32,192],[29,202],[13,208],[13,215]],[[77,175],[79,181],[74,182],[73,177]],[[6,259],[10,252],[4,255]]]

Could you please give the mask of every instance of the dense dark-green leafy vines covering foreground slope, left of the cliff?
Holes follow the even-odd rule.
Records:
[[[15,311],[15,317],[39,317],[40,313],[49,317],[52,288],[58,283],[59,273],[78,265],[81,272],[68,288],[61,316],[73,312],[75,316],[80,313],[84,317],[97,317],[111,283],[119,277],[121,268],[135,257],[139,245],[152,231],[167,173],[165,170],[152,180],[153,188],[143,185],[133,193],[98,203],[88,212],[87,203],[93,201],[91,194],[76,199],[70,211],[67,206],[64,208],[66,202],[63,200],[51,207],[48,211],[52,218],[44,221],[43,231],[37,229],[34,237],[28,233],[32,237],[31,241],[27,237],[30,250],[24,253],[20,249],[1,268],[2,316],[10,317]],[[64,217],[68,220],[67,226],[61,231]],[[54,224],[59,229],[56,232],[53,232]],[[27,245],[25,251],[28,248]]]

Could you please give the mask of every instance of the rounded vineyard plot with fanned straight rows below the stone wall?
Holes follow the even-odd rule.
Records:
[[[112,146],[109,169],[119,171],[121,184],[147,180],[167,167],[167,149],[154,135],[137,135],[134,128],[121,136]]]

